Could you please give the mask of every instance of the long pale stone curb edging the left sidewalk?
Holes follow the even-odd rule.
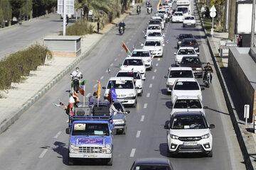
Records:
[[[127,13],[127,15],[123,18],[120,18],[119,21],[124,20],[128,16],[129,13]],[[78,58],[76,58],[71,64],[69,64],[68,67],[66,67],[62,72],[60,72],[56,77],[54,77],[53,80],[50,81],[50,83],[46,84],[46,86],[39,90],[38,94],[31,97],[31,99],[28,99],[28,101],[26,101],[26,103],[23,104],[22,108],[18,108],[19,111],[14,113],[14,115],[11,118],[9,118],[9,120],[5,120],[4,123],[0,125],[0,134],[4,132],[7,128],[9,128],[9,126],[11,126],[11,124],[13,124],[26,110],[28,110],[28,108],[31,107],[33,103],[36,103],[36,101],[38,101],[44,94],[46,94],[46,92],[48,92],[48,90],[50,90],[50,88],[53,85],[55,85],[60,79],[62,79],[65,76],[65,74],[68,74],[68,72],[70,72],[70,70],[73,69],[82,59],[87,57],[90,54],[90,52],[101,42],[101,40],[105,38],[105,36],[108,33],[110,33],[110,31],[113,30],[115,27],[116,26],[114,25],[112,26],[112,28],[107,30],[107,32],[104,33],[102,37],[99,40],[97,40],[87,51],[83,52]]]

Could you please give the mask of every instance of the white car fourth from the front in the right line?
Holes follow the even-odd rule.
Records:
[[[191,67],[170,67],[166,78],[167,92],[171,92],[174,82],[179,78],[195,78]]]

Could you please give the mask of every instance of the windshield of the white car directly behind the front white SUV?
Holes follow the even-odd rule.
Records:
[[[202,108],[199,99],[177,99],[174,108]]]

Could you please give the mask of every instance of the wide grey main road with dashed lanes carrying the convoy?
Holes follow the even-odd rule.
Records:
[[[153,6],[156,6],[154,1]],[[155,9],[154,9],[155,10]],[[87,84],[85,94],[97,91],[97,82],[107,84],[112,70],[114,76],[119,64],[126,57],[121,40],[132,50],[144,42],[142,30],[146,28],[149,15],[146,9],[138,16],[132,13],[125,23],[124,35],[118,35],[117,28],[112,30],[97,45],[91,54],[78,66]],[[206,37],[201,26],[182,28],[181,23],[167,23],[164,30],[169,43],[164,47],[164,57],[154,58],[152,71],[146,72],[144,94],[138,98],[137,108],[127,108],[127,135],[114,135],[113,166],[102,165],[100,161],[78,162],[68,166],[68,128],[67,115],[52,103],[60,98],[68,103],[70,79],[67,74],[48,93],[0,135],[0,169],[129,169],[134,159],[140,157],[166,157],[166,130],[164,124],[171,112],[171,96],[166,94],[167,69],[174,64],[176,52],[176,35],[192,33],[198,39],[201,60],[211,61]],[[198,79],[202,84],[202,79]],[[101,97],[103,97],[101,95]],[[82,97],[80,98],[82,100]],[[215,124],[213,133],[213,157],[202,157],[200,154],[183,154],[169,158],[174,169],[245,169],[240,147],[233,130],[228,109],[225,106],[218,78],[213,74],[213,86],[203,91],[203,103],[207,106],[206,118]]]

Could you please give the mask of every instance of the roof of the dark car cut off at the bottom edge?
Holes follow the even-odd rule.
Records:
[[[161,164],[161,165],[169,165],[169,159],[166,158],[139,158],[135,160],[136,165],[143,165],[143,164]]]

